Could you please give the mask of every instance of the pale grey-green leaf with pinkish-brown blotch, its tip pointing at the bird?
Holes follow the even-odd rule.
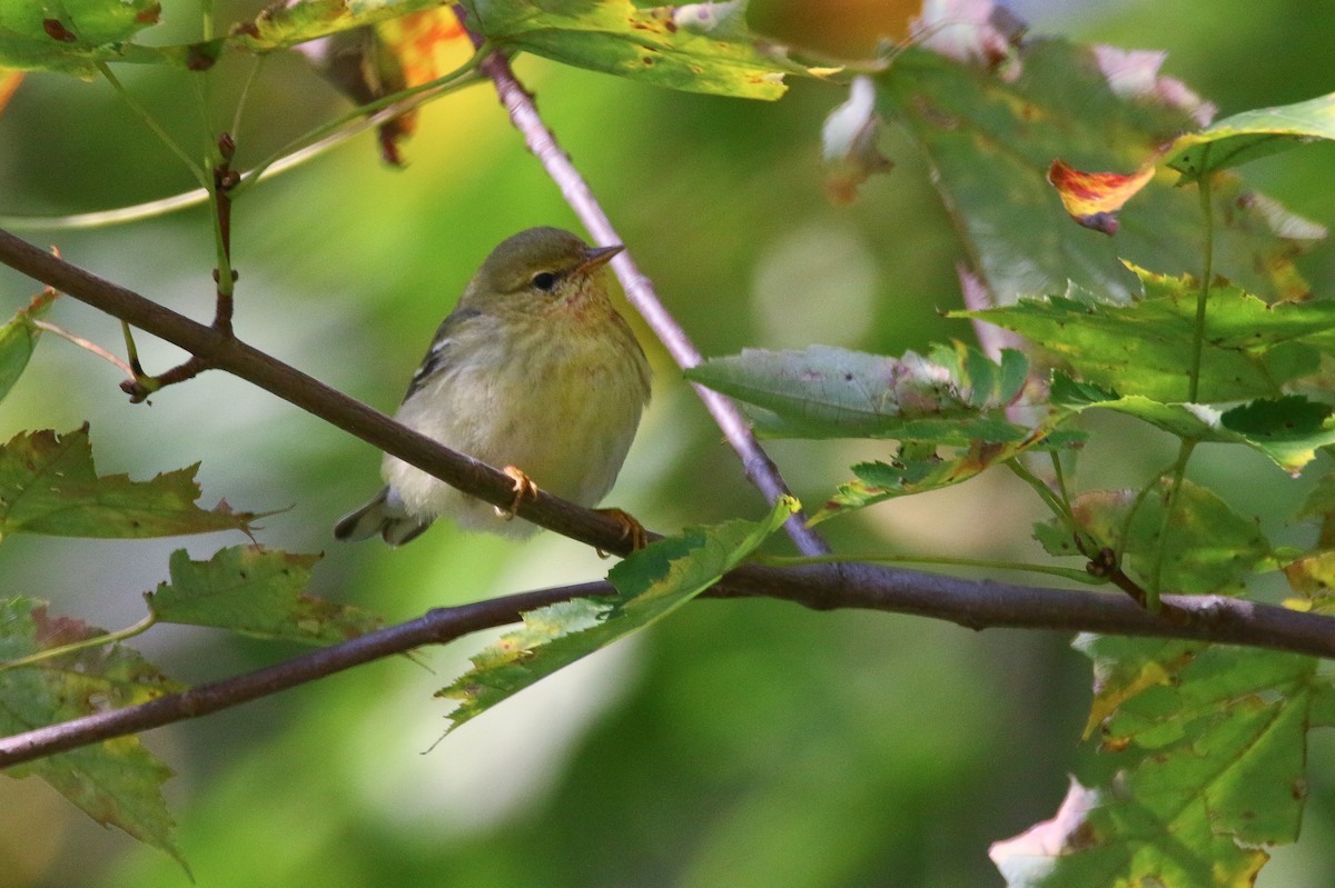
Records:
[[[969,447],[1020,443],[1032,429],[1005,419],[1025,373],[1019,352],[1003,365],[964,345],[902,359],[828,345],[749,348],[686,371],[686,377],[764,408],[758,431],[782,437],[893,437]],[[1024,364],[1027,369],[1027,364]]]

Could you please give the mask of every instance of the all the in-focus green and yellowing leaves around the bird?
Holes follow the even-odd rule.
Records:
[[[409,49],[413,40],[394,37],[394,29],[418,33],[407,17],[443,15],[437,7],[298,0],[224,36],[212,36],[210,24],[198,40],[162,45],[139,41],[162,15],[156,3],[23,1],[0,12],[0,64],[111,77],[107,63],[138,61],[207,76],[223,53],[263,55],[327,37],[371,52],[362,43],[371,32],[359,29],[375,27],[375,52],[403,53],[386,63],[391,85],[340,87],[382,108],[433,75],[446,83],[477,64],[445,73],[407,57],[433,53]],[[784,95],[785,77],[852,80],[837,67],[794,61],[753,35],[742,0],[463,7],[491,48],[658,87],[772,100]],[[1296,264],[1324,232],[1231,172],[1335,139],[1335,96],[1210,124],[1211,109],[1160,77],[1153,57],[1021,40],[996,17],[953,4],[929,9],[916,45],[857,65],[864,73],[826,129],[826,155],[834,189],[848,200],[870,172],[888,167],[876,149],[881,119],[906,129],[930,163],[987,296],[985,305],[952,312],[977,324],[983,347],[951,343],[900,356],[828,345],[746,349],[688,377],[744,401],[766,436],[894,441],[884,459],[860,461],[852,479],[830,481],[816,521],[1007,468],[1051,511],[1033,533],[1047,555],[1097,567],[1095,581],[1115,575],[1149,608],[1160,607],[1161,593],[1254,595],[1258,580],[1283,572],[1295,592],[1290,607],[1330,613],[1335,483],[1327,477],[1300,509],[1319,532],[1299,549],[1232,505],[1231,491],[1188,477],[1188,468],[1199,445],[1240,447],[1264,455],[1280,469],[1274,483],[1287,484],[1335,444],[1335,404],[1323,400],[1335,311],[1310,292]],[[961,16],[972,24],[961,27]],[[427,32],[463,39],[457,29]],[[368,57],[356,56],[359,76]],[[230,151],[218,148],[210,161],[215,172],[231,172]],[[219,220],[227,219],[218,184],[224,179],[211,192]],[[226,237],[219,233],[224,260]],[[51,296],[0,328],[0,397],[29,364],[41,332],[35,321]],[[1013,335],[1004,340],[1013,345],[996,347],[995,328]],[[1096,433],[1089,419],[1100,412],[1161,432],[1176,460],[1127,487],[1077,489],[1069,480]],[[259,513],[235,512],[226,501],[196,505],[198,468],[147,481],[97,475],[87,425],[19,433],[0,448],[0,533],[258,533]],[[473,668],[438,693],[458,701],[451,731],[674,615],[750,559],[794,511],[785,499],[760,521],[690,527],[614,567],[617,597],[526,613],[521,628],[474,656]],[[307,593],[316,563],[258,544],[222,548],[207,560],[178,551],[170,580],[146,595],[146,621],[111,633],[48,616],[33,599],[7,600],[0,727],[16,733],[179,689],[124,645],[155,623],[319,644],[375,628],[372,615]],[[1335,712],[1316,661],[1184,641],[1081,636],[1076,644],[1093,663],[1087,733],[1097,733],[1116,773],[1089,788],[1072,783],[1052,821],[993,845],[1008,884],[1251,884],[1266,848],[1298,836],[1308,729],[1330,727]],[[160,796],[168,771],[138,739],[11,773],[41,776],[99,823],[182,859]]]

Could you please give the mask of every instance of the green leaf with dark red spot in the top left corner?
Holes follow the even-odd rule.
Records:
[[[129,43],[156,24],[159,0],[4,0],[0,67],[91,76],[99,61],[162,61],[184,53]]]

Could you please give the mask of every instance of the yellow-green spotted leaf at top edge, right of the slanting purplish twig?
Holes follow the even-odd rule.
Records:
[[[672,89],[778,99],[785,75],[821,76],[746,28],[745,0],[638,7],[630,0],[465,0],[489,40]]]

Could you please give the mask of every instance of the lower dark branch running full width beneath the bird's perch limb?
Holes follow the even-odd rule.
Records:
[[[417,620],[287,663],[0,739],[0,768],[218,712],[363,663],[514,623],[519,613],[557,601],[614,593],[607,583],[585,583],[437,608]],[[821,609],[912,613],[973,629],[1008,627],[1195,639],[1335,657],[1335,621],[1330,617],[1222,596],[1164,596],[1164,612],[1173,615],[1165,617],[1120,595],[960,580],[868,564],[748,567],[705,593],[705,597],[752,596]]]

